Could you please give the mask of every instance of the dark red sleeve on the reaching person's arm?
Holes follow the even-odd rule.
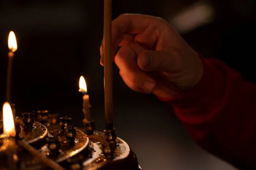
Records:
[[[256,169],[256,86],[216,59],[202,59],[194,88],[169,102],[203,149],[239,169]]]

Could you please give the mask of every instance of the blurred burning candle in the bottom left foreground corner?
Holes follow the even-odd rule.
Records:
[[[6,140],[6,156],[8,160],[8,167],[11,170],[17,169],[17,145],[15,142],[15,126],[14,126],[14,120],[12,115],[12,108],[8,102],[5,102],[3,104],[3,133],[8,136],[8,139]]]

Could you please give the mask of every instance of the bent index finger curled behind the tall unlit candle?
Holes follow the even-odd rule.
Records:
[[[160,28],[165,21],[163,19],[141,15],[141,14],[122,14],[112,21],[112,50],[116,51],[124,34],[136,34],[134,40],[144,44],[149,49],[154,48],[160,37]],[[102,42],[100,52],[103,55]],[[103,56],[102,56],[103,57]]]

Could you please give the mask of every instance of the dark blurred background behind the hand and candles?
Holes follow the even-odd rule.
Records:
[[[150,14],[171,20],[194,0],[113,0],[113,19],[122,13]],[[215,19],[182,34],[204,57],[223,60],[255,82],[254,0],[214,0]],[[81,126],[79,77],[87,82],[93,118],[103,130],[103,0],[0,1],[0,103],[5,102],[8,34],[18,50],[13,61],[12,102],[17,113],[49,110],[69,115]],[[137,153],[145,170],[234,170],[197,147],[172,108],[152,95],[131,91],[113,64],[113,102],[117,135]],[[228,122],[227,122],[228,123]]]

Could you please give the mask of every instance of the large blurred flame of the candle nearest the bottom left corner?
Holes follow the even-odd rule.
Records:
[[[15,136],[16,134],[12,108],[8,102],[3,104],[3,133],[11,136]]]

